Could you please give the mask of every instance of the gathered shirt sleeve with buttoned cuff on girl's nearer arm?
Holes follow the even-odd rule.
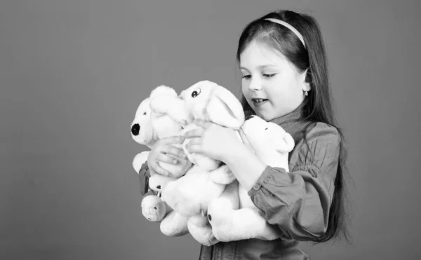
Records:
[[[307,146],[308,144],[308,146]],[[316,125],[290,156],[290,172],[267,166],[248,195],[286,238],[313,240],[326,232],[338,170],[340,135]],[[291,164],[291,162],[295,163]]]

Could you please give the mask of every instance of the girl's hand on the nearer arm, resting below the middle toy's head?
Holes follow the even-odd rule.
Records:
[[[186,149],[189,153],[201,153],[215,160],[225,162],[241,144],[233,129],[225,128],[215,123],[196,119],[194,124],[199,126],[185,132],[185,138],[191,138]]]

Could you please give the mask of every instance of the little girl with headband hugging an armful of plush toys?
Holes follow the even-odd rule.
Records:
[[[266,221],[283,233],[272,241],[202,245],[199,260],[309,259],[298,248],[300,240],[324,242],[347,236],[342,201],[345,151],[342,133],[333,121],[319,26],[309,15],[269,13],[246,26],[236,57],[243,75],[241,102],[246,116],[254,114],[277,123],[294,138],[290,172],[262,163],[234,130],[196,121],[201,128],[159,141],[140,177],[148,176],[149,170],[166,175],[158,161],[187,160],[171,144],[191,138],[188,151],[226,163]]]

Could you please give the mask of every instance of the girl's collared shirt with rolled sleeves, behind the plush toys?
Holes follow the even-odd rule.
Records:
[[[301,110],[275,118],[272,122],[290,133],[295,147],[288,155],[289,172],[267,166],[248,195],[266,221],[279,228],[276,240],[248,239],[201,246],[199,260],[309,259],[298,247],[300,240],[314,240],[328,226],[334,181],[338,170],[340,135],[326,123],[300,121]],[[146,164],[146,163],[145,163]],[[140,170],[140,184],[149,175]],[[144,189],[144,191],[146,191]]]

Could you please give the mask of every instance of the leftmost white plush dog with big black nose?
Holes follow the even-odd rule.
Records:
[[[147,99],[143,100],[135,114],[135,119],[131,125],[132,137],[139,144],[143,144],[151,148],[158,139],[169,137],[173,135],[180,135],[182,125],[173,121],[166,114],[159,114],[151,111],[150,101],[157,96],[172,96],[177,97],[177,93],[173,88],[161,85],[154,90]],[[170,106],[171,104],[167,104]],[[180,146],[181,148],[181,146]],[[135,156],[133,160],[133,167],[136,172],[139,172],[140,167],[147,160],[149,151],[143,151]],[[153,192],[148,192],[142,199],[141,207],[142,214],[149,221],[161,221],[161,232],[165,235],[179,236],[185,235],[187,231],[187,218],[174,212],[161,199],[161,189],[169,182],[175,181],[178,177],[185,174],[185,172],[192,166],[192,163],[187,161],[181,165],[171,165],[168,163],[160,163],[161,167],[170,172],[170,176],[152,175],[149,178],[149,188]]]

